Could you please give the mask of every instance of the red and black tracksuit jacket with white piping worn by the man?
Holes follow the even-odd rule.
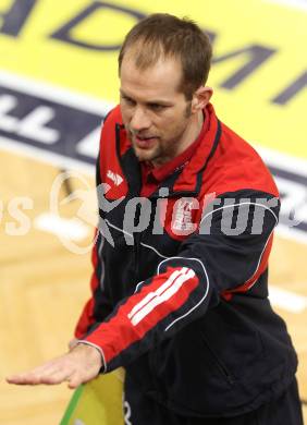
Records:
[[[277,186],[211,105],[206,117],[189,162],[140,202],[120,108],[105,121],[97,183],[108,191],[98,191],[93,298],[76,337],[101,349],[105,372],[124,366],[167,408],[220,417],[278,397],[297,359],[268,300]]]

